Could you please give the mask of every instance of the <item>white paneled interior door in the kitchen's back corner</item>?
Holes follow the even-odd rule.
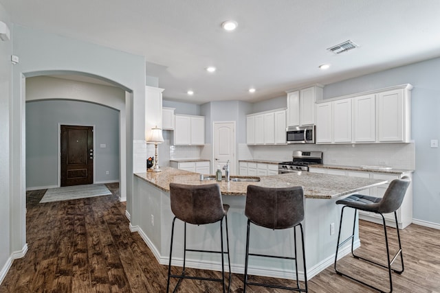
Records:
[[[214,122],[212,134],[212,173],[217,170],[217,165],[223,168],[229,160],[230,174],[236,174],[235,121]]]

